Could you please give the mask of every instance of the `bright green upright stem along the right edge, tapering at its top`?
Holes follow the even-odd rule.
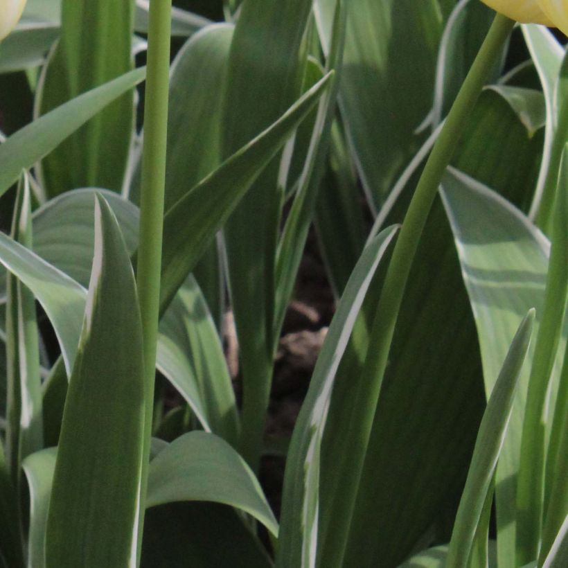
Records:
[[[556,179],[558,189],[553,208],[547,286],[529,376],[517,481],[517,562],[520,566],[538,557],[542,535],[546,425],[550,420],[547,400],[568,295],[568,148],[562,157],[560,175],[556,170]]]

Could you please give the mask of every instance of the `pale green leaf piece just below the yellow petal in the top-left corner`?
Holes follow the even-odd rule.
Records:
[[[42,65],[59,33],[57,24],[21,21],[2,42],[0,73],[13,73]]]

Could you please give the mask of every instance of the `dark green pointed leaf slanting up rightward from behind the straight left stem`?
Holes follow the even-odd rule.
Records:
[[[164,219],[161,311],[169,305],[239,199],[310,112],[332,73],[305,93],[271,127],[199,182]]]

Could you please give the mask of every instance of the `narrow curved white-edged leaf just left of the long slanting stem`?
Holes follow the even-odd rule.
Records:
[[[278,567],[315,565],[319,547],[321,441],[335,373],[373,275],[395,232],[395,229],[386,229],[364,250],[341,296],[318,357],[288,450]]]

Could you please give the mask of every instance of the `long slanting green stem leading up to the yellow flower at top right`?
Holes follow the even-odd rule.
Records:
[[[325,535],[326,547],[329,547],[326,553],[330,552],[328,558],[335,566],[342,565],[348,527],[355,507],[357,488],[360,483],[382,379],[418,242],[436,197],[438,186],[452,159],[465,123],[485,85],[488,73],[502,53],[503,46],[513,30],[513,25],[512,20],[502,15],[495,17],[432,149],[393,250],[373,321],[369,350],[362,371],[363,379],[355,395],[357,416],[356,420],[350,423],[349,439],[354,445],[356,444],[356,447],[353,448],[351,454],[353,459],[350,460],[349,467],[344,468],[341,494],[337,495],[337,508],[333,513],[331,523],[333,526],[330,527],[332,531]]]

